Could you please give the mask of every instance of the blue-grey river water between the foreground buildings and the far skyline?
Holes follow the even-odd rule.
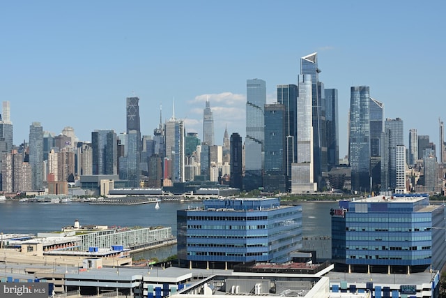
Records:
[[[304,249],[316,250],[318,258],[331,257],[331,216],[330,209],[337,202],[302,202],[302,241]],[[161,202],[160,209],[154,204],[137,205],[90,205],[88,202],[71,203],[0,203],[0,232],[3,234],[37,234],[52,232],[73,225],[109,225],[121,227],[171,227],[176,236],[176,211],[201,206],[201,202]],[[158,258],[162,260],[176,254],[176,246],[157,248],[136,253],[134,259]]]

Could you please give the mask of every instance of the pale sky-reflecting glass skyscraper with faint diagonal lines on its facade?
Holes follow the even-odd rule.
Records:
[[[252,191],[263,185],[263,140],[265,138],[263,110],[266,104],[266,82],[259,79],[247,80],[246,89],[245,177],[243,178],[243,188],[246,191]]]

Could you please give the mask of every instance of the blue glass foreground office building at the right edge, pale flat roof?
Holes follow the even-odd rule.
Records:
[[[429,195],[344,201],[330,214],[335,267],[410,273],[445,264],[444,206],[429,204]]]

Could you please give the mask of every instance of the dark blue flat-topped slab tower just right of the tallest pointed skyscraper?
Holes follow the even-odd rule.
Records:
[[[339,117],[337,89],[325,89],[325,121],[327,128],[328,170],[339,165]]]

